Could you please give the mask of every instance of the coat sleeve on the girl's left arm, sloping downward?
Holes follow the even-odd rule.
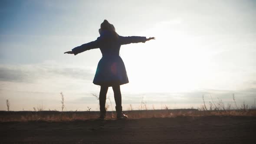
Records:
[[[90,50],[90,49],[97,49],[99,47],[99,41],[98,39],[95,41],[92,41],[90,43],[85,43],[81,46],[77,46],[74,49],[72,49],[72,52],[74,53],[74,55],[77,55],[81,52],[84,52],[86,50]]]

